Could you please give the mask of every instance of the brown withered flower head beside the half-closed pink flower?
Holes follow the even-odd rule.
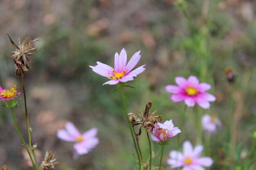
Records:
[[[152,102],[148,102],[146,104],[144,113],[139,112],[139,118],[135,119],[135,124],[133,125],[139,125],[139,132],[141,132],[141,128],[145,128],[145,131],[149,132],[151,128],[155,127],[154,125],[155,123],[157,123],[157,118],[160,118],[160,120],[162,121],[162,116],[154,116],[157,113],[157,110],[150,114],[150,108],[152,105]]]

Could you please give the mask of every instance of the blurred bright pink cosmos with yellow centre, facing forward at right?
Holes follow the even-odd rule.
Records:
[[[186,80],[183,77],[175,77],[178,86],[167,85],[167,93],[173,93],[171,100],[173,102],[185,101],[189,107],[195,106],[195,102],[204,109],[210,108],[210,103],[216,100],[216,97],[206,93],[211,88],[210,84],[199,83],[197,77],[191,75]]]

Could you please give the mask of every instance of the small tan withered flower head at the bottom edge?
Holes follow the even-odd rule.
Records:
[[[50,168],[54,169],[55,165],[58,163],[56,159],[52,159],[55,155],[55,151],[47,150],[45,154],[45,159],[41,163],[39,170],[48,170]]]

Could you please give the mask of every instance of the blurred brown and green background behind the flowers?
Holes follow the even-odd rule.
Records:
[[[29,123],[33,142],[38,143],[38,159],[46,150],[56,150],[59,170],[128,170],[135,165],[135,150],[120,91],[105,85],[108,79],[94,73],[89,65],[97,61],[114,65],[114,55],[124,47],[128,60],[141,50],[137,66],[146,71],[125,88],[128,112],[142,111],[152,101],[163,121],[173,119],[179,126],[184,103],[174,104],[164,87],[175,84],[176,76],[195,75],[212,85],[209,93],[217,97],[204,113],[216,114],[224,124],[213,135],[212,170],[227,169],[225,147],[234,152],[231,169],[243,164],[243,154],[252,147],[256,130],[256,1],[255,0],[1,0],[0,3],[0,86],[16,84],[22,91],[20,77],[15,77],[10,52],[13,46],[7,33],[16,38],[39,38],[38,49],[30,57],[31,69],[25,73]],[[225,70],[232,68],[232,84]],[[23,95],[14,109],[18,126],[27,141]],[[181,141],[196,144],[193,113],[188,108],[186,131]],[[231,136],[227,134],[233,114]],[[56,131],[72,121],[81,132],[99,129],[99,145],[88,155],[73,159],[73,144],[61,141]],[[200,122],[197,122],[200,123]],[[227,146],[227,136],[231,144]],[[171,139],[175,144],[176,139]],[[145,135],[140,137],[144,159],[148,157]],[[168,153],[165,148],[163,167]],[[158,166],[159,146],[153,145]],[[10,111],[0,108],[0,165],[10,170],[27,170],[23,146],[13,126]],[[231,160],[233,160],[231,158]],[[78,165],[79,164],[79,165]],[[256,166],[252,166],[252,170]]]

